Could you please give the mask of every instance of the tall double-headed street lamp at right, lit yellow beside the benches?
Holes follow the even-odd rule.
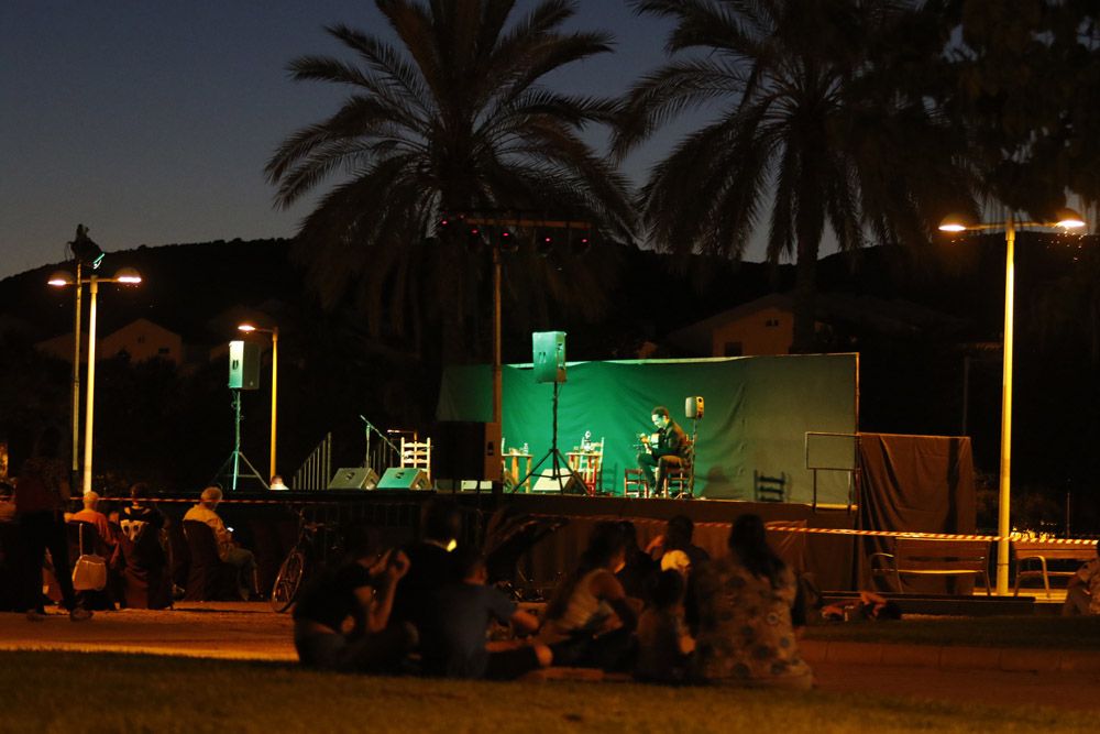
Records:
[[[1015,283],[1016,230],[1024,227],[1060,227],[1079,229],[1085,219],[1072,209],[1059,209],[1052,221],[1018,221],[1011,212],[1001,222],[976,222],[965,215],[949,215],[939,222],[943,232],[996,231],[1004,232],[1004,346],[1002,358],[1004,369],[1001,382],[1001,479],[998,495],[997,518],[997,593],[1009,593],[1009,534],[1012,532],[1010,511],[1012,497],[1012,321]]]

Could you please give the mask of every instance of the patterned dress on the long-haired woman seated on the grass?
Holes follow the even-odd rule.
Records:
[[[783,569],[773,589],[732,555],[697,572],[698,675],[735,686],[810,688],[813,673],[799,656],[791,626],[795,581]]]

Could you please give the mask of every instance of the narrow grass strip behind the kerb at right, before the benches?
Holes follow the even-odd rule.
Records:
[[[806,639],[1100,651],[1100,617],[989,616],[812,626]]]

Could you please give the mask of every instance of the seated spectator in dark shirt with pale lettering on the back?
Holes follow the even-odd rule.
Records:
[[[168,555],[161,543],[164,515],[147,504],[148,486],[138,482],[130,487],[131,504],[119,514],[119,547],[125,561],[123,594],[131,609],[172,606],[172,579]]]

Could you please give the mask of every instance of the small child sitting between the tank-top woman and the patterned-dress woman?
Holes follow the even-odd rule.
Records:
[[[695,640],[683,620],[684,577],[667,569],[652,578],[650,604],[638,620],[638,660],[635,678],[659,683],[679,683],[688,677]]]

